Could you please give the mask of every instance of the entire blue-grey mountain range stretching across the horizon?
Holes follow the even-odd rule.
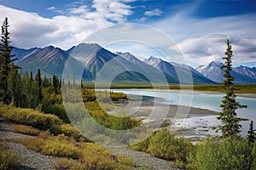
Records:
[[[53,46],[45,48],[13,48],[12,54],[18,58],[15,61],[22,70],[32,71],[38,69],[48,77],[62,76],[67,62],[75,65],[73,74],[79,75],[81,69],[83,80],[100,82],[155,82],[155,83],[194,83],[216,84],[223,82],[224,71],[222,63],[212,62],[194,69],[189,65],[167,62],[160,58],[149,57],[140,60],[129,52],[112,53],[96,43],[80,43],[67,50]],[[236,83],[256,83],[256,68],[247,66],[234,67],[231,75],[236,77]]]

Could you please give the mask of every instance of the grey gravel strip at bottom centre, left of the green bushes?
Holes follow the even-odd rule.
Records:
[[[166,161],[154,156],[150,156],[148,153],[145,152],[129,150],[124,147],[109,147],[108,149],[113,150],[114,155],[131,157],[137,165],[142,166],[135,168],[136,170],[179,170],[179,168],[174,165],[173,161]]]

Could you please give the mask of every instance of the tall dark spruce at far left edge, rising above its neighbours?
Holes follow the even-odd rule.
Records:
[[[8,18],[5,18],[2,26],[2,36],[0,44],[0,101],[8,103],[8,77],[10,71],[10,65],[15,59],[11,59],[15,55],[11,55],[13,47],[9,46],[11,42],[9,40],[9,22]]]

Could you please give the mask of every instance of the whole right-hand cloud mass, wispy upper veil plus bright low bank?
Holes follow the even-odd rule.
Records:
[[[254,14],[199,19],[176,14],[152,23],[177,42],[190,65],[221,61],[229,37],[234,51],[234,64],[256,61],[256,21]],[[173,50],[172,46],[171,49]],[[172,59],[178,56],[172,56]]]

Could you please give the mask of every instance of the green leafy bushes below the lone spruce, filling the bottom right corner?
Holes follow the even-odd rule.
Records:
[[[208,138],[193,145],[183,138],[176,138],[169,130],[161,129],[130,148],[175,161],[178,167],[190,170],[256,169],[256,142],[250,144],[248,139]]]

